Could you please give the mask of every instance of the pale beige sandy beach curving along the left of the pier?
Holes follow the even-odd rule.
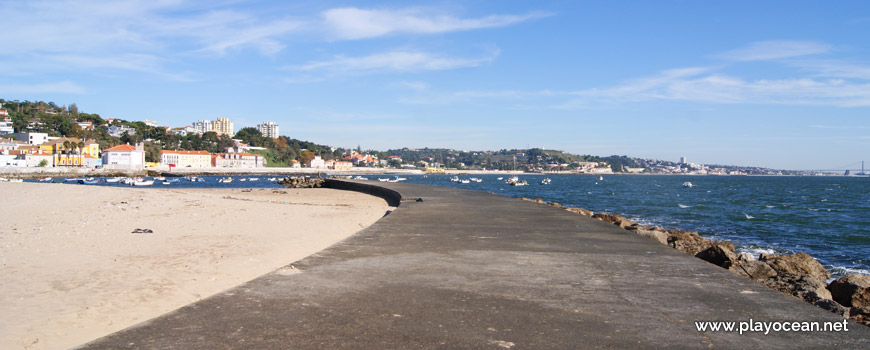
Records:
[[[244,191],[0,183],[0,349],[81,345],[273,272],[391,209],[349,191]]]

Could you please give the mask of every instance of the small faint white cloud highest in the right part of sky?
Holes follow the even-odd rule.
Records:
[[[715,57],[732,61],[769,61],[823,54],[830,50],[830,45],[813,41],[758,41],[744,48],[715,55]]]

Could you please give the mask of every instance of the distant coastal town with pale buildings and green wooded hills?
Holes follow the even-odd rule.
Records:
[[[776,170],[629,156],[576,155],[543,148],[468,151],[336,148],[300,141],[265,121],[236,130],[229,118],[184,126],[126,121],[79,112],[53,102],[0,99],[0,167],[161,169],[408,170],[428,173],[509,171],[550,174],[864,175],[836,171]]]

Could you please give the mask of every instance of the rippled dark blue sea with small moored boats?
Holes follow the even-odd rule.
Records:
[[[392,175],[365,175],[371,181]],[[181,180],[152,188],[273,188],[278,175],[234,176],[220,183]],[[625,216],[644,225],[698,231],[730,241],[738,252],[758,256],[806,252],[833,276],[870,274],[870,178],[843,176],[519,175],[527,186],[510,186],[509,175],[463,175],[480,182],[451,182],[452,175],[401,175],[404,182],[541,198],[568,207]],[[247,181],[239,181],[242,178]],[[549,185],[541,180],[551,179]],[[29,180],[35,181],[35,180]],[[690,182],[693,186],[683,184]],[[126,186],[101,182],[103,186]],[[84,185],[89,186],[89,185]]]

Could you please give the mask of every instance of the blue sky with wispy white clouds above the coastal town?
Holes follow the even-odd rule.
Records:
[[[867,1],[0,0],[0,98],[335,147],[870,162]],[[870,164],[870,163],[868,163]]]

